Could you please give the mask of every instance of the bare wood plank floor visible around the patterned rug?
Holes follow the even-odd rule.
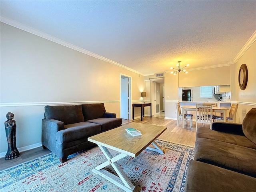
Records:
[[[190,130],[189,126],[186,126],[186,125],[185,125],[186,128],[183,129],[182,124],[179,125],[178,127],[176,126],[177,124],[176,120],[168,120],[162,117],[163,116],[161,116],[161,118],[153,116],[152,118],[150,118],[148,116],[145,116],[143,118],[143,121],[141,121],[140,118],[136,120],[123,120],[123,124],[126,124],[128,122],[137,122],[137,123],[143,123],[143,124],[166,126],[167,130],[158,137],[159,139],[194,147],[194,144],[196,141],[196,123],[195,122],[193,122],[192,130]],[[205,126],[207,125],[205,124]],[[26,161],[33,160],[35,158],[44,156],[45,154],[49,154],[49,153],[50,153],[50,150],[43,149],[42,147],[38,147],[32,150],[20,152],[20,156],[12,160],[5,160],[4,158],[0,158],[0,170],[5,170],[12,166],[22,164]]]

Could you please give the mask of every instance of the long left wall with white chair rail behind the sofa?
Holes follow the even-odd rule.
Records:
[[[4,122],[14,113],[17,147],[40,145],[44,106],[104,102],[120,116],[120,74],[132,78],[132,101],[145,89],[139,74],[1,22],[0,153]]]

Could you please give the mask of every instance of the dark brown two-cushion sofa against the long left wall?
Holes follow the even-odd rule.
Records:
[[[45,106],[42,146],[66,162],[68,155],[96,146],[90,136],[119,127],[122,119],[108,113],[103,103],[74,106]]]

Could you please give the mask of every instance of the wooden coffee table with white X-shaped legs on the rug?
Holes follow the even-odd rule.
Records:
[[[140,130],[142,135],[132,137],[126,132],[126,128],[135,128]],[[92,172],[99,174],[113,184],[119,186],[126,192],[136,192],[135,186],[130,182],[124,171],[118,165],[117,161],[126,157],[138,156],[144,149],[153,150],[164,154],[164,151],[154,142],[167,128],[162,126],[147,125],[140,123],[128,123],[118,128],[91,136],[88,141],[98,144],[107,161],[96,166]],[[150,144],[152,144],[150,146]],[[117,156],[112,156],[107,148],[120,152]],[[111,165],[118,176],[104,170],[104,167]]]

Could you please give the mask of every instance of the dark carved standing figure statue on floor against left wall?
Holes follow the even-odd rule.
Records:
[[[7,121],[4,122],[4,126],[8,142],[8,150],[5,159],[10,160],[19,157],[20,152],[16,147],[16,122],[13,120],[14,114],[8,112],[6,118]]]

